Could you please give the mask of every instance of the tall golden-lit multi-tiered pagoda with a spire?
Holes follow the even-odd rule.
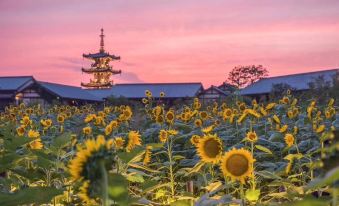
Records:
[[[88,89],[107,89],[113,86],[111,75],[121,74],[121,70],[114,70],[109,65],[110,61],[120,60],[120,56],[109,54],[104,49],[104,29],[101,29],[100,50],[94,54],[83,54],[86,59],[90,59],[93,63],[90,68],[82,68],[82,72],[93,75],[89,83],[81,83],[81,86]]]

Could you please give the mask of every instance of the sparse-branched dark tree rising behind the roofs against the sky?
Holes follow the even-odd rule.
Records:
[[[228,74],[228,83],[244,88],[267,76],[268,71],[262,65],[236,66]]]

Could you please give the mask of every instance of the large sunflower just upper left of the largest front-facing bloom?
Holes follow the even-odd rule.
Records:
[[[204,135],[197,143],[198,155],[206,163],[218,163],[222,156],[222,150],[222,142],[216,134]]]

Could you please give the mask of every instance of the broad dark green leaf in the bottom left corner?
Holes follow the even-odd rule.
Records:
[[[49,203],[53,197],[60,194],[62,194],[62,191],[53,187],[29,187],[14,194],[0,193],[0,205],[46,204]]]

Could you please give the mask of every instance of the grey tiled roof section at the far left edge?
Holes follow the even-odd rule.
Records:
[[[25,85],[34,82],[32,76],[11,76],[11,77],[0,77],[0,90],[14,90],[18,91]]]

